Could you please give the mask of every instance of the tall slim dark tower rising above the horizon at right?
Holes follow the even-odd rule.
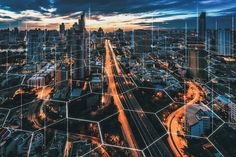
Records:
[[[198,18],[198,38],[205,42],[206,35],[206,12],[202,12]]]

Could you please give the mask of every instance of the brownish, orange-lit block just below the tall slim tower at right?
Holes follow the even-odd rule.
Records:
[[[202,43],[188,44],[188,66],[193,78],[207,79],[207,51]]]

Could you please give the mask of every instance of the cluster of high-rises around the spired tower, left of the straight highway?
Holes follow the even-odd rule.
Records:
[[[41,87],[48,85],[52,78],[55,78],[54,81],[57,83],[68,77],[73,80],[85,80],[90,76],[90,51],[102,46],[104,37],[102,28],[90,35],[85,28],[85,14],[83,13],[78,23],[75,22],[70,29],[66,30],[65,24],[62,23],[59,26],[59,32],[51,32],[51,36],[48,34],[41,30],[27,32],[26,45],[29,64],[34,62],[42,65],[40,62],[46,59],[46,54],[55,53],[55,58],[51,58],[53,63],[43,64],[44,66],[41,66],[42,68],[29,78],[27,83]],[[50,52],[47,52],[49,46],[51,49]],[[63,63],[63,56],[66,57],[67,63]]]

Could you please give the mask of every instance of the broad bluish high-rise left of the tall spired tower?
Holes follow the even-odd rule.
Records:
[[[40,62],[44,59],[43,53],[44,32],[41,30],[30,30],[27,33],[27,62]]]

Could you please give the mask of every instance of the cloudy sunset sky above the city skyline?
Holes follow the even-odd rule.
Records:
[[[0,29],[69,28],[86,13],[86,27],[195,28],[200,12],[207,12],[208,28],[234,28],[235,0],[0,0]]]

